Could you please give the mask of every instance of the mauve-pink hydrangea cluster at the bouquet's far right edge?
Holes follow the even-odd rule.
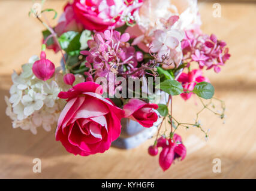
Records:
[[[216,73],[221,71],[230,58],[228,48],[224,41],[219,41],[215,35],[204,35],[201,32],[186,30],[185,38],[182,41],[183,62],[196,61],[200,69],[214,69]]]

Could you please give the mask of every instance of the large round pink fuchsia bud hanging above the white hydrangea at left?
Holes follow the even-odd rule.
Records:
[[[32,71],[37,78],[47,81],[52,78],[55,73],[55,66],[52,61],[46,59],[46,53],[41,51],[40,60],[35,61],[32,66]]]

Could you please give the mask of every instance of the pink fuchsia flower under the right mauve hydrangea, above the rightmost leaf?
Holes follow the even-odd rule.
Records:
[[[208,78],[203,77],[203,72],[198,69],[198,70],[192,70],[191,72],[188,73],[182,73],[177,81],[182,82],[182,86],[184,91],[192,91],[194,90],[195,85],[197,82],[210,82]],[[182,93],[180,96],[184,100],[188,100],[191,97],[192,93]]]

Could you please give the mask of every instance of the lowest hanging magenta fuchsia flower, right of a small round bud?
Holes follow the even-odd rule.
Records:
[[[163,171],[170,168],[175,159],[180,158],[182,161],[186,156],[186,147],[182,144],[182,139],[177,134],[173,135],[173,139],[160,137],[157,147],[162,147],[159,155],[159,165]]]

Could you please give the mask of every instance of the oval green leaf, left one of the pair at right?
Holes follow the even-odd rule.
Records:
[[[183,87],[180,82],[172,79],[167,79],[164,82],[161,82],[160,89],[171,96],[177,96],[183,93]]]

